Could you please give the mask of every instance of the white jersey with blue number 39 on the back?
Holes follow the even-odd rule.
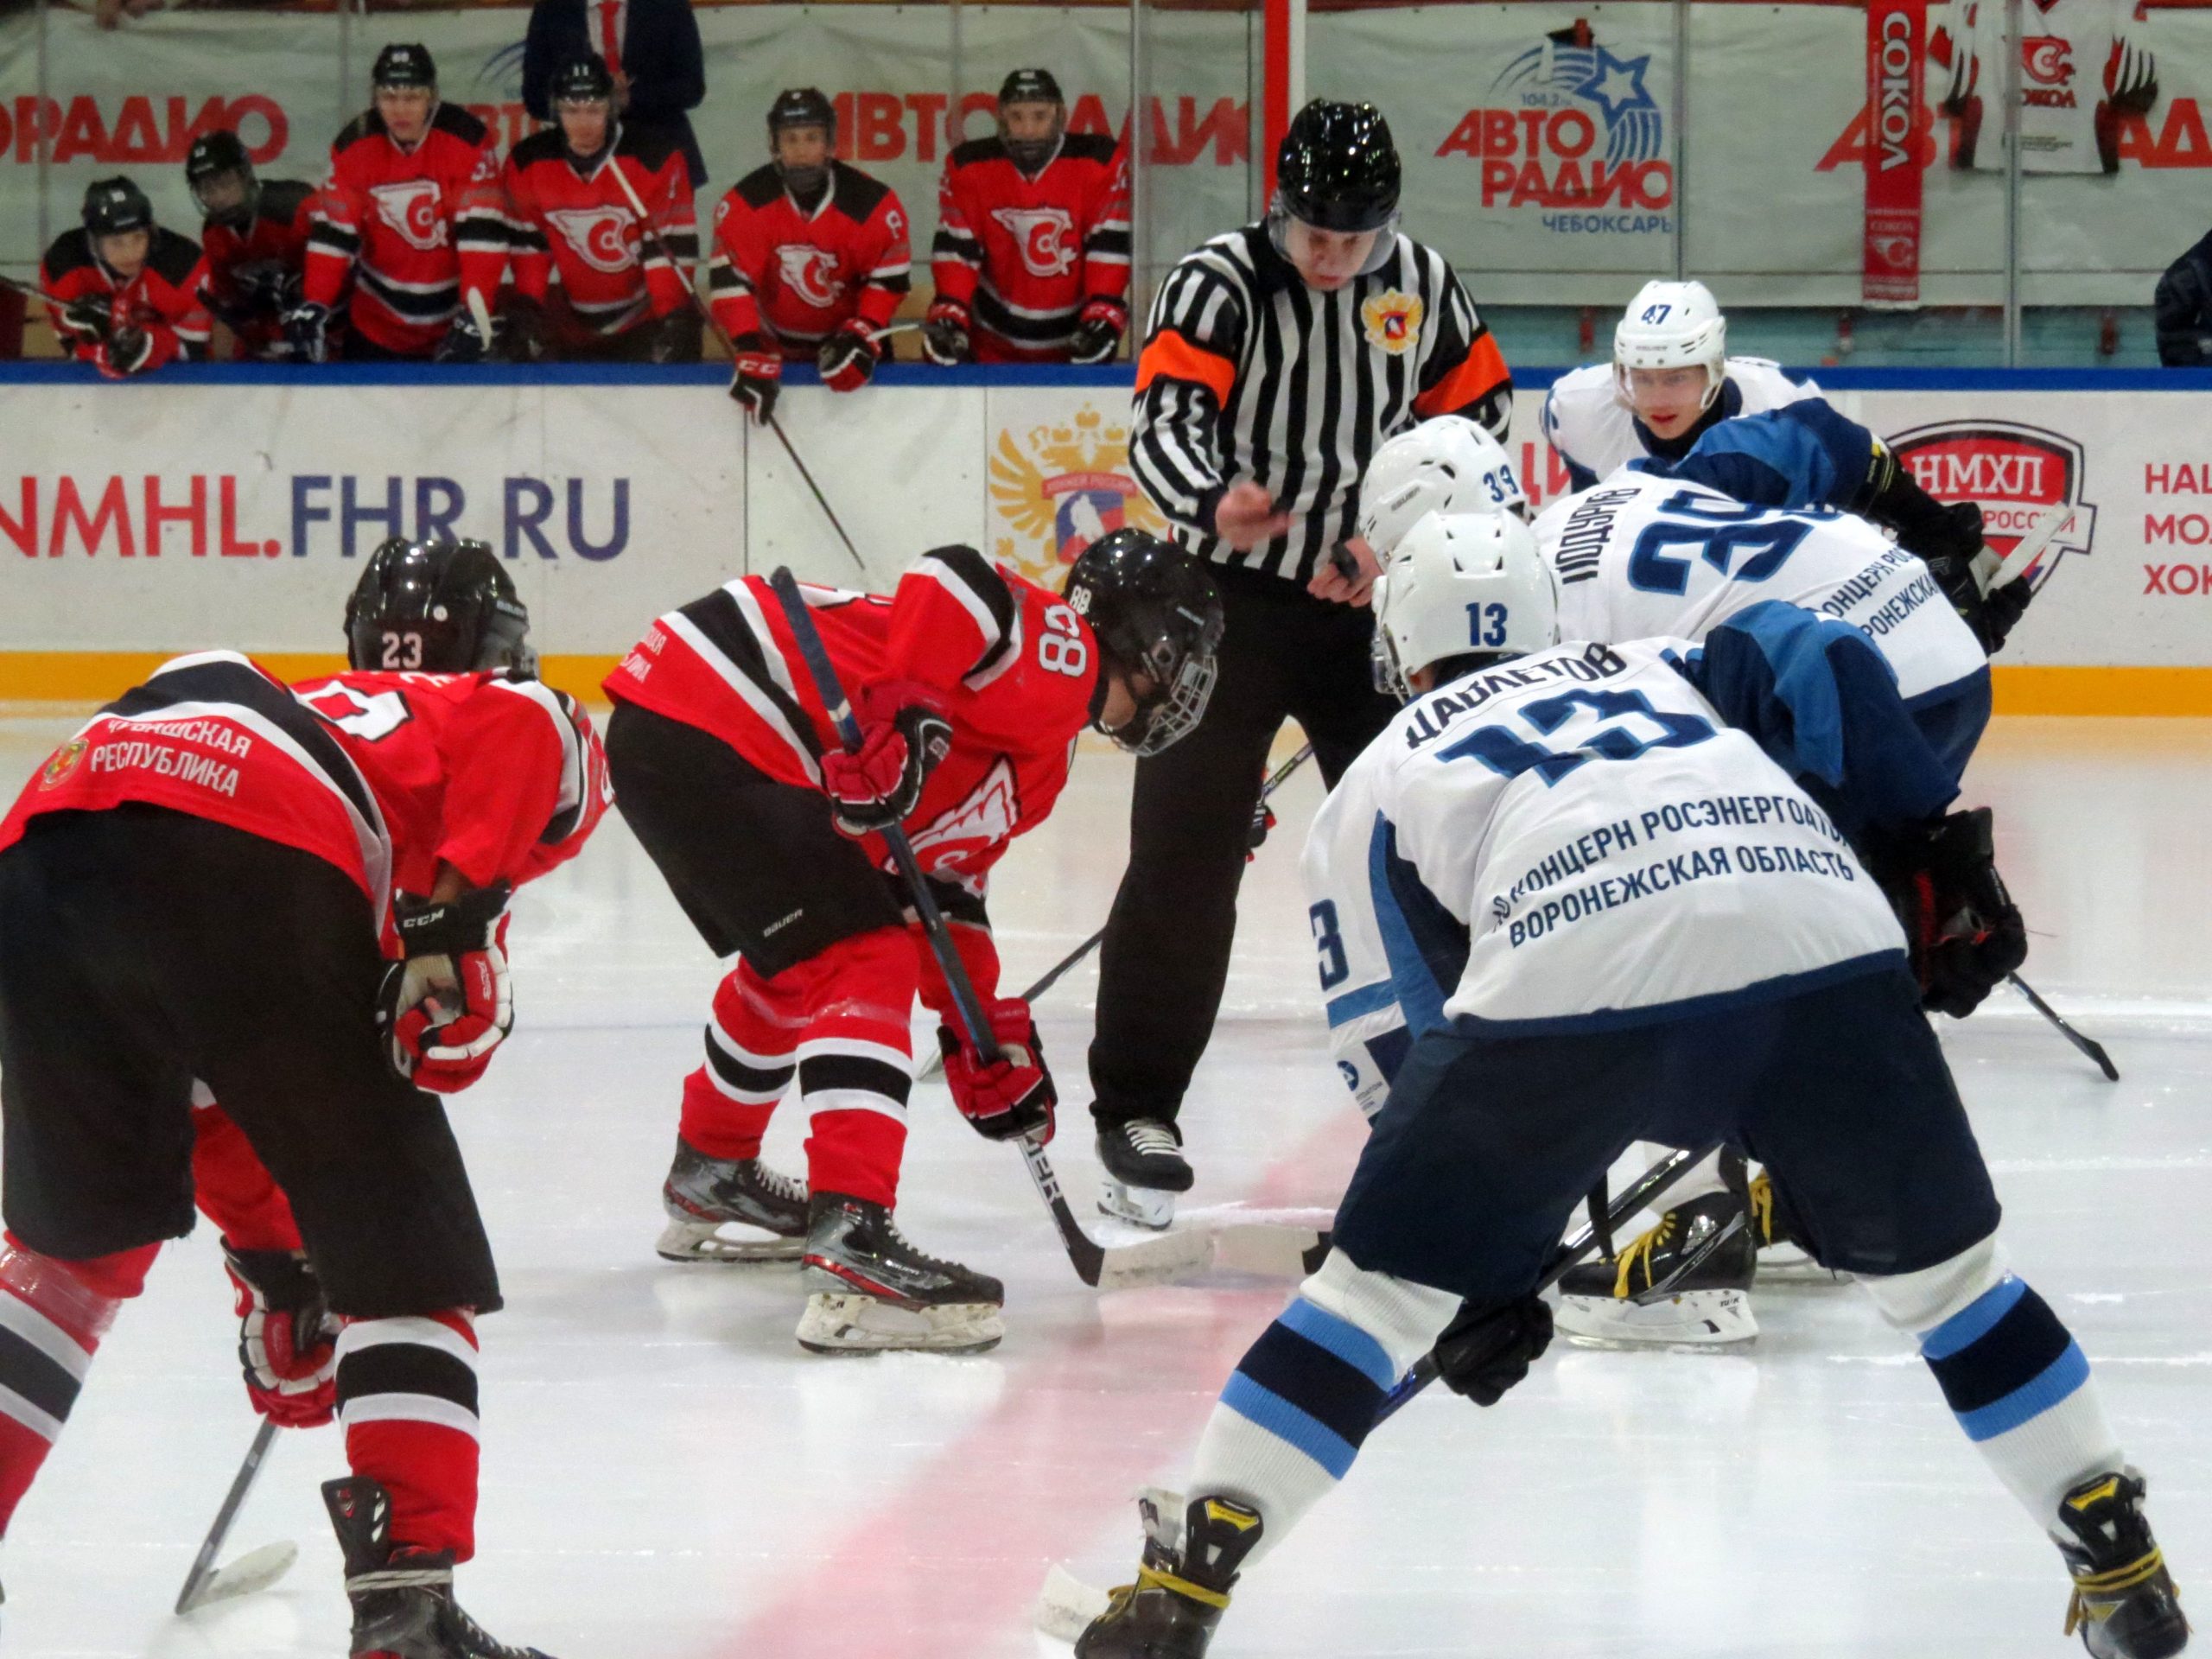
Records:
[[[1767,599],[1858,628],[1913,703],[1989,668],[1929,568],[1863,518],[1774,511],[1624,469],[1535,520],[1571,639],[1703,639]]]

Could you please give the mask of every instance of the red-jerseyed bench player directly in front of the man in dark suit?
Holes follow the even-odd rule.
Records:
[[[661,128],[615,117],[615,77],[597,53],[562,62],[551,97],[555,126],[522,139],[502,175],[515,248],[507,354],[697,363],[699,310],[686,290],[699,226],[684,150]]]

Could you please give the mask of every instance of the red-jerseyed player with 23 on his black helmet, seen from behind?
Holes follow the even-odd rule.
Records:
[[[345,1429],[352,1652],[529,1659],[453,1604],[500,1287],[425,1091],[507,1035],[507,896],[588,838],[604,757],[513,672],[480,542],[387,542],[347,622],[363,668],[301,688],[166,664],[0,823],[0,1531],[197,1179],[257,1409]]]

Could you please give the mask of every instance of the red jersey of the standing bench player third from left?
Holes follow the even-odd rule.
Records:
[[[507,217],[491,133],[460,104],[438,104],[420,142],[400,146],[376,111],[330,146],[330,179],[307,232],[307,299],[387,352],[429,356],[465,290],[498,299]]]

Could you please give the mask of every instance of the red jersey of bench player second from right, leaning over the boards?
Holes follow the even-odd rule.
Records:
[[[914,248],[898,192],[843,161],[801,208],[772,166],[739,179],[714,208],[708,296],[732,341],[765,332],[792,361],[854,316],[887,327],[911,288]]]

